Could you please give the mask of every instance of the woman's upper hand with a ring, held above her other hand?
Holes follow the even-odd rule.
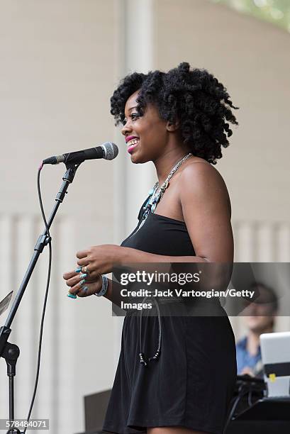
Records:
[[[77,264],[82,267],[82,272],[87,272],[88,277],[94,279],[98,274],[111,273],[113,265],[118,264],[122,249],[115,244],[94,245],[77,252]]]

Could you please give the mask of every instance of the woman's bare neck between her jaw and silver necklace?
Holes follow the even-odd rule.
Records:
[[[157,159],[153,161],[159,185],[162,185],[174,165],[176,165],[179,160],[182,160],[182,157],[189,152],[191,152],[191,150],[187,146],[179,145],[164,151],[160,157],[157,157]]]

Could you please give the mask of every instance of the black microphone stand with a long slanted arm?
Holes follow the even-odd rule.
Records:
[[[62,177],[62,185],[60,187],[60,191],[57,193],[55,198],[56,204],[52,208],[52,212],[50,214],[50,218],[48,219],[48,229],[50,228],[53,219],[55,218],[55,214],[57,213],[57,209],[65,198],[65,194],[67,194],[67,188],[69,184],[74,180],[74,175],[77,172],[77,168],[82,164],[84,160],[77,163],[68,163],[66,164],[67,172],[65,172],[64,177]],[[33,269],[38,261],[38,257],[40,253],[43,252],[43,249],[50,242],[51,238],[48,237],[46,228],[43,230],[42,235],[39,236],[37,243],[34,247],[33,256],[29,262],[28,269],[26,270],[26,274],[23,277],[21,282],[21,286],[18,289],[18,293],[13,302],[13,306],[9,311],[9,315],[6,319],[5,325],[0,328],[0,358],[3,357],[6,360],[7,365],[7,375],[9,377],[9,426],[14,421],[14,384],[13,379],[16,375],[16,362],[18,356],[20,354],[20,350],[17,345],[11,344],[8,342],[9,335],[11,333],[11,323],[13,321],[14,316],[16,315],[16,311],[21,302],[23,294],[26,290],[26,286],[30,280],[31,274],[33,273]],[[6,434],[22,434],[18,428],[10,428]]]

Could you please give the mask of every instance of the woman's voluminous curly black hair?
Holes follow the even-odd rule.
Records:
[[[231,109],[238,107],[233,106],[227,89],[213,74],[206,69],[190,69],[189,63],[183,62],[168,72],[127,75],[111,97],[116,125],[123,123],[126,101],[138,90],[141,116],[148,103],[155,104],[164,121],[179,121],[184,143],[194,155],[213,165],[223,156],[221,147],[228,147],[228,137],[233,133],[228,122],[238,125]]]

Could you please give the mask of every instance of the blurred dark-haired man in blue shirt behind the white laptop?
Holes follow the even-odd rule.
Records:
[[[279,309],[275,291],[269,286],[256,282],[251,289],[260,294],[244,311],[247,335],[236,344],[238,375],[263,376],[260,350],[260,335],[274,331],[275,318]]]

